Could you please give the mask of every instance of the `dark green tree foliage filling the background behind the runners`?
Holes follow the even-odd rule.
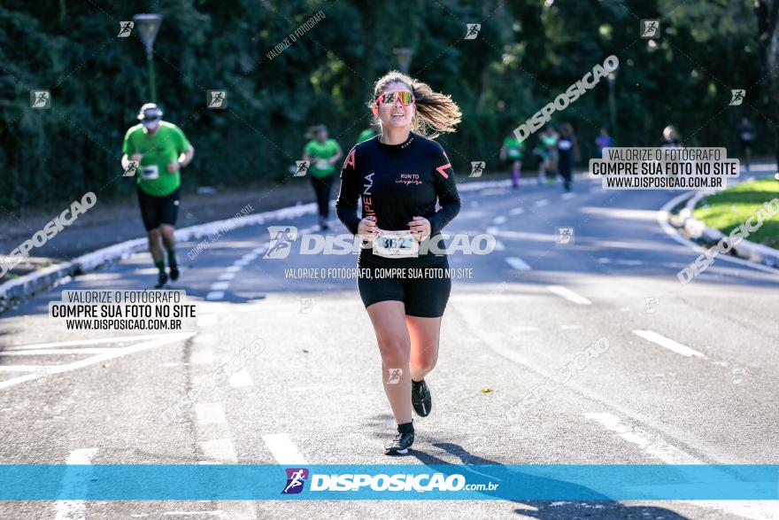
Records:
[[[185,187],[282,180],[299,159],[305,130],[325,123],[348,150],[366,128],[373,82],[397,68],[392,50],[414,50],[410,73],[451,94],[464,113],[442,136],[454,167],[498,167],[503,138],[610,54],[617,142],[656,145],[674,124],[686,145],[729,146],[742,116],[771,151],[761,114],[757,28],[749,0],[556,0],[314,2],[158,0],[155,43],[159,104],[197,153]],[[10,1],[0,5],[0,204],[7,208],[98,196],[129,196],[121,139],[147,101],[143,44],[117,38],[119,22],[149,2]],[[277,57],[266,54],[311,18],[315,27]],[[651,48],[639,19],[662,18]],[[481,23],[463,40],[467,23]],[[749,89],[729,107],[729,89]],[[30,89],[50,89],[51,110],[32,110]],[[205,90],[227,89],[228,110],[206,110]],[[582,159],[607,126],[601,81],[553,122],[571,122]],[[529,151],[536,138],[528,141]]]

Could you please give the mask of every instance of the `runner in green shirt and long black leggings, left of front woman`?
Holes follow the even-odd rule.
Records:
[[[330,189],[333,186],[333,174],[336,173],[334,165],[343,157],[343,151],[335,139],[328,139],[328,128],[325,125],[312,127],[306,137],[313,138],[305,145],[303,160],[310,164],[308,171],[320,210],[320,229],[324,231],[329,229]]]

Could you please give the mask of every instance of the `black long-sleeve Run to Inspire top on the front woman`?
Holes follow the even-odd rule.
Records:
[[[357,215],[358,200],[362,202],[361,217]],[[430,221],[430,239],[436,240],[459,208],[457,183],[446,152],[440,144],[413,132],[403,144],[368,139],[355,145],[343,162],[336,214],[354,235],[359,221],[369,215],[376,217],[379,229],[388,231],[409,229],[408,222],[420,216]],[[438,244],[443,249],[443,240]],[[436,255],[420,251],[417,259],[387,259],[364,248],[360,259],[387,267],[408,267],[427,265]]]

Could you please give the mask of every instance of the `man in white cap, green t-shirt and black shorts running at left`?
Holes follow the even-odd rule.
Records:
[[[167,283],[163,246],[171,280],[179,277],[174,226],[179,213],[181,168],[192,161],[195,149],[181,128],[162,120],[162,110],[157,105],[143,105],[138,119],[141,123],[125,134],[121,162],[125,172],[135,170],[143,227],[149,238],[151,258],[158,268],[154,287],[160,289]]]

